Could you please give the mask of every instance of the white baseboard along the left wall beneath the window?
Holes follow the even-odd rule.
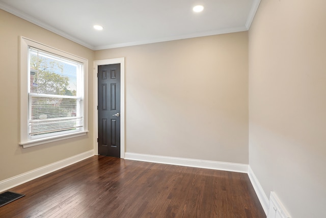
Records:
[[[57,171],[58,169],[69,166],[71,164],[74,164],[76,162],[79,162],[81,160],[84,160],[84,159],[92,157],[92,156],[94,156],[94,150],[90,150],[90,151],[84,152],[82,154],[78,154],[78,155],[66,158],[64,160],[60,160],[55,163],[51,163],[51,164],[42,166],[37,169],[33,169],[33,171],[29,171],[29,172],[20,174],[18,176],[14,176],[9,179],[0,181],[0,192],[8,190],[8,189],[15,187],[17,185],[20,185],[22,183],[31,181],[38,177],[44,176],[46,174],[52,173],[54,171]]]

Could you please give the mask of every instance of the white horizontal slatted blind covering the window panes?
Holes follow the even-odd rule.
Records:
[[[83,64],[29,46],[29,138],[84,129]]]

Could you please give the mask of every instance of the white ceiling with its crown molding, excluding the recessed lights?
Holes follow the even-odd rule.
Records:
[[[260,0],[0,0],[0,8],[92,50],[249,30]],[[195,13],[195,5],[204,11]],[[104,30],[96,31],[93,25]]]

